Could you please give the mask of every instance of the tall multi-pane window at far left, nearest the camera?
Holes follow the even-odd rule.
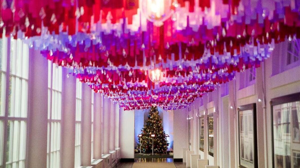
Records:
[[[0,167],[25,167],[28,64],[28,45],[20,39],[3,36],[0,40]]]

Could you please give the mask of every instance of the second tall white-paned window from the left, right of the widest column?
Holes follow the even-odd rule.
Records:
[[[47,168],[60,167],[62,68],[48,61]]]

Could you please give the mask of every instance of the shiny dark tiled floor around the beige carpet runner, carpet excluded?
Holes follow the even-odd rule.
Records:
[[[135,162],[160,162],[160,163],[172,163],[173,158],[136,158]],[[131,168],[134,162],[120,163],[117,168]],[[185,163],[174,162],[176,168],[186,168]]]

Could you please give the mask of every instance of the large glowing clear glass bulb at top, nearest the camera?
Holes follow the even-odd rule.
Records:
[[[174,14],[178,7],[177,0],[143,0],[142,12],[155,26],[162,26],[164,21]]]

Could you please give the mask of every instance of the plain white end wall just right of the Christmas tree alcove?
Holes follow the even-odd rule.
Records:
[[[173,110],[174,112],[174,158],[182,158],[183,148],[187,146],[187,111],[188,109]]]

